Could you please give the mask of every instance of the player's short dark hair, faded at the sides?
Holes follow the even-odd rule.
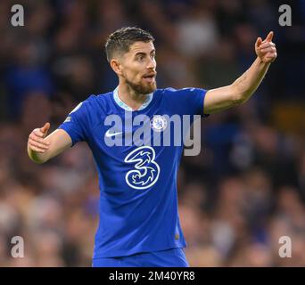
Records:
[[[107,61],[111,61],[115,53],[128,53],[130,45],[136,42],[153,42],[152,35],[142,28],[127,27],[113,32],[107,39],[105,50]]]

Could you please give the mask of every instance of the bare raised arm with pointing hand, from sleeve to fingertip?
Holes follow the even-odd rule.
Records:
[[[207,92],[204,99],[204,113],[211,114],[226,110],[246,102],[251,97],[265,77],[270,63],[276,60],[276,45],[272,42],[272,38],[272,31],[264,41],[258,37],[255,43],[257,59],[233,84]]]

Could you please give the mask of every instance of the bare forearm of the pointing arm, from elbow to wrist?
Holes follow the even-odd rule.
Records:
[[[246,102],[259,87],[269,66],[270,63],[265,63],[258,57],[251,67],[232,84],[235,90],[235,98],[238,98],[240,102]]]

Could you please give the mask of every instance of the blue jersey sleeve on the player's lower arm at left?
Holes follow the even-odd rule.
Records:
[[[80,102],[58,129],[66,131],[71,138],[72,146],[77,142],[87,141],[87,110],[85,102]]]

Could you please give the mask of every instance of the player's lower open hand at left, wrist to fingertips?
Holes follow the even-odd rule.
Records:
[[[44,153],[49,149],[50,142],[44,140],[49,128],[50,123],[45,123],[45,126],[38,127],[29,134],[28,146],[30,150]]]

